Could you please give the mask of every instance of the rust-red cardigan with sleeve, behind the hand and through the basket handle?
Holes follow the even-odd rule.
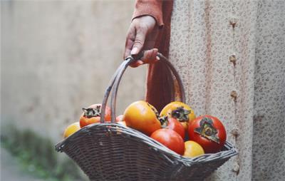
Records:
[[[172,0],[137,0],[133,13],[133,19],[144,15],[150,15],[155,18],[157,25],[160,26],[160,33],[157,36],[155,47],[166,57],[168,57],[170,45],[172,7]],[[170,103],[173,96],[173,79],[167,67],[160,62],[149,65],[147,71],[147,91],[145,94],[146,100],[160,111],[163,105]]]

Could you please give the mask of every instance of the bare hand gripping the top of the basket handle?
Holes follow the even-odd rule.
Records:
[[[144,56],[138,59],[130,66],[138,67],[145,63],[153,63],[159,58],[157,57],[157,48],[155,46],[155,39],[158,33],[158,26],[152,16],[140,16],[133,19],[128,30],[128,35],[125,41],[124,58],[132,55],[137,56],[142,50]]]

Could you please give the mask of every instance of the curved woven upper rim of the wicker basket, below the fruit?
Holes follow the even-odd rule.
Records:
[[[122,134],[122,136],[124,137],[132,137],[134,139],[138,138],[138,141],[147,144],[148,146],[150,146],[150,149],[162,153],[163,156],[167,158],[167,160],[170,160],[170,162],[182,162],[183,165],[194,165],[201,164],[204,162],[229,159],[229,157],[238,154],[237,149],[234,148],[231,143],[226,141],[223,148],[226,150],[222,150],[216,153],[206,153],[204,155],[199,155],[197,157],[192,158],[183,157],[182,155],[177,154],[176,152],[165,147],[165,145],[162,145],[161,143],[141,133],[140,131],[135,130],[133,128],[128,128],[124,125],[120,125],[119,123],[93,123],[87,125],[86,127],[78,130],[76,133],[73,133],[73,135],[70,135],[68,138],[65,138],[60,143],[56,144],[56,151],[64,152],[64,148],[66,145],[68,145],[68,143],[76,142],[76,140],[78,140],[78,138],[81,138],[83,134],[88,134],[90,131],[98,129],[105,129],[107,133],[118,133],[119,131],[120,134]]]

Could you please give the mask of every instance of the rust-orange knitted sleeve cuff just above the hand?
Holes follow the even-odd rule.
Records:
[[[133,19],[138,16],[152,16],[160,28],[163,26],[162,0],[137,0],[135,1],[135,11]]]

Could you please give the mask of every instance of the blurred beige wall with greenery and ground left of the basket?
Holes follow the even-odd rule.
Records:
[[[134,1],[1,0],[1,180],[87,180],[54,150],[81,110],[101,103],[123,61]],[[129,68],[118,114],[145,93]]]

